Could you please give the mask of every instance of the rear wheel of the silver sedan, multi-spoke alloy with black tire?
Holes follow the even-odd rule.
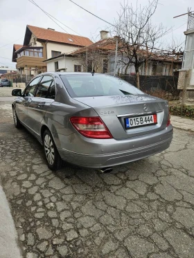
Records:
[[[55,145],[51,132],[46,129],[43,134],[43,147],[47,165],[51,170],[58,170],[64,165],[64,161],[60,157],[58,149]]]

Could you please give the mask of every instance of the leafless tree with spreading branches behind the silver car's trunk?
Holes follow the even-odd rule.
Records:
[[[121,12],[115,24],[120,57],[118,63],[123,64],[125,74],[130,66],[134,66],[137,88],[139,88],[139,67],[155,55],[159,39],[169,31],[162,24],[152,24],[152,15],[157,9],[157,3],[158,0],[149,1],[148,6],[143,8],[137,4],[136,8],[128,3],[121,4]]]

